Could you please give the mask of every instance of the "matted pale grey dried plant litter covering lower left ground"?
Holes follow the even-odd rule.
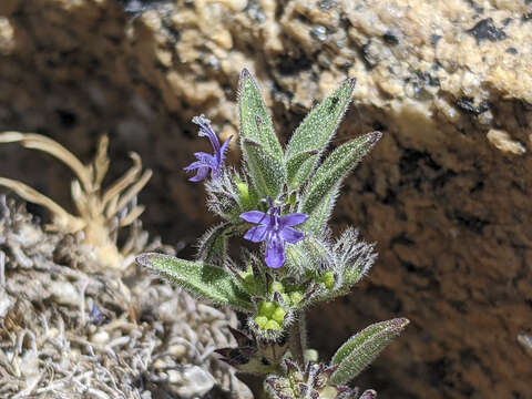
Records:
[[[135,250],[172,254],[143,232],[129,241]],[[198,304],[137,266],[89,273],[94,262],[79,237],[42,231],[23,206],[0,196],[0,398],[242,391],[228,366],[209,356],[235,344],[233,313]],[[214,378],[217,393],[205,396],[205,386],[187,379],[191,370]]]

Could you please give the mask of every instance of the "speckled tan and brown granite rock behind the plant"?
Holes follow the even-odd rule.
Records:
[[[358,381],[385,398],[532,398],[532,4],[448,1],[0,2],[0,130],[37,131],[154,170],[141,201],[165,242],[206,224],[182,167],[193,115],[237,130],[247,66],[286,139],[314,99],[356,76],[355,106],[332,145],[385,137],[350,177],[338,227],[360,226],[380,260],[344,301],[317,309],[310,339],[331,352],[369,321],[408,332]],[[236,149],[234,149],[236,151]],[[70,178],[10,147],[2,175],[63,204]],[[122,171],[116,171],[119,174]]]

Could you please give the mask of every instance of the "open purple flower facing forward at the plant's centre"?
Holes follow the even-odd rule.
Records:
[[[285,242],[296,244],[303,239],[303,233],[291,228],[307,219],[308,215],[294,213],[280,216],[280,208],[270,206],[268,213],[259,211],[245,212],[241,215],[246,222],[258,224],[249,228],[244,238],[252,243],[268,241],[266,244],[266,265],[279,268],[285,263]]]

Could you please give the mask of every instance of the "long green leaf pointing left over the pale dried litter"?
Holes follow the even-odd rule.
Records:
[[[172,284],[215,305],[244,311],[254,310],[254,305],[241,284],[219,267],[156,253],[143,254],[136,258],[136,263],[154,269]]]

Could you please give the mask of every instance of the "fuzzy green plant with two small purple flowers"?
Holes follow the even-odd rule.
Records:
[[[408,324],[405,318],[374,324],[328,364],[306,348],[305,311],[348,294],[377,256],[356,229],[332,239],[327,228],[344,180],[381,136],[362,135],[325,156],[354,86],[355,80],[347,80],[311,110],[283,149],[257,84],[244,70],[238,88],[242,171],[224,166],[231,137],[221,145],[203,115],[193,122],[214,154],[196,153],[185,168],[196,171],[192,182],[206,181],[208,206],[223,222],[200,239],[195,262],[154,253],[137,258],[190,293],[242,315],[241,329],[232,329],[238,347],[217,352],[256,398],[359,398],[347,383]],[[236,264],[228,247],[242,236],[250,244]],[[360,398],[375,396],[367,390]]]

